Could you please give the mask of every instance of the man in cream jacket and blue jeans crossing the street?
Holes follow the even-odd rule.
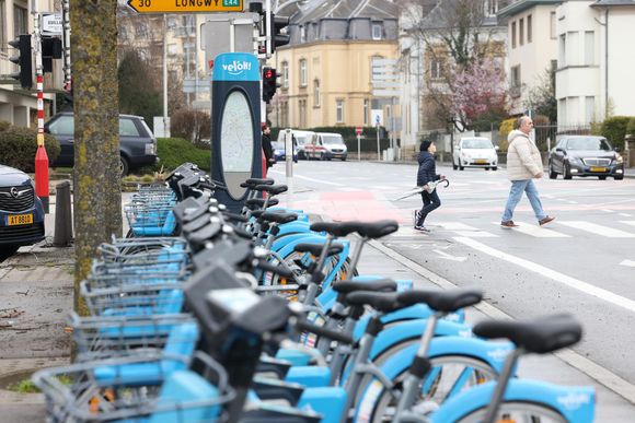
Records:
[[[540,179],[543,175],[540,151],[529,138],[533,121],[529,116],[521,116],[516,126],[518,129],[509,132],[507,137],[509,142],[507,149],[507,175],[509,180],[511,180],[511,189],[509,190],[500,226],[518,226],[511,218],[513,216],[513,209],[516,209],[522,198],[522,192],[527,193],[535,219],[543,226],[555,218],[546,215],[542,209],[538,189],[533,183],[533,179]]]

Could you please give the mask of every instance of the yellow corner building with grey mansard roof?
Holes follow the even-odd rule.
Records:
[[[281,87],[270,105],[274,126],[371,126],[372,63],[397,56],[397,10],[386,0],[309,1],[291,16],[290,43],[274,66]]]

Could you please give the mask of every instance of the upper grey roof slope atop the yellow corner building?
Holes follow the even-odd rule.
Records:
[[[318,22],[323,19],[350,20],[396,19],[396,4],[389,0],[309,0],[298,13],[291,16],[292,23]]]

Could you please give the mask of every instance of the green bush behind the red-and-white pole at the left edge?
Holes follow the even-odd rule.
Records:
[[[35,153],[37,152],[37,131],[30,128],[19,128],[0,125],[0,163],[15,167],[22,172],[35,172]],[[59,155],[59,142],[50,134],[44,134],[44,146],[48,163],[55,162]]]

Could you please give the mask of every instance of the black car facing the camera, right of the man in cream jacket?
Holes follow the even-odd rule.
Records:
[[[597,176],[624,179],[624,160],[603,137],[565,136],[549,154],[549,177]]]

